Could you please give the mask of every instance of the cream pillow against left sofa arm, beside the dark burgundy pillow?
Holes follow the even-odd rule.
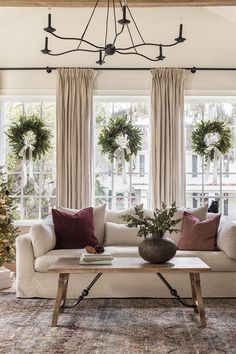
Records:
[[[36,224],[30,229],[35,257],[42,256],[56,245],[56,235],[53,225]]]

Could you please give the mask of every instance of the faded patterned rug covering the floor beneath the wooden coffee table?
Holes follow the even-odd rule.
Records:
[[[206,299],[206,328],[174,299],[87,299],[54,328],[54,300],[0,300],[1,354],[236,353],[236,299]]]

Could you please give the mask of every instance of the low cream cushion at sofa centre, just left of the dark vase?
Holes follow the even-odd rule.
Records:
[[[138,246],[142,238],[137,237],[138,230],[124,224],[106,222],[105,246]]]

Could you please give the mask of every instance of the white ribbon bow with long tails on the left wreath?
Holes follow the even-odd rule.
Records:
[[[27,161],[29,166],[29,180],[33,178],[33,151],[35,149],[36,136],[32,130],[29,130],[23,135],[24,146],[19,152],[19,156],[22,158],[21,163],[21,183],[25,187],[28,183],[27,176]],[[28,152],[28,156],[27,156]]]

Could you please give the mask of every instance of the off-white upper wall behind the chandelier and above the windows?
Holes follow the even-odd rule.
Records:
[[[235,8],[234,8],[235,10]],[[5,11],[5,12],[4,12]],[[53,26],[62,35],[79,35],[83,30],[91,9],[53,9]],[[0,8],[0,67],[19,66],[93,66],[97,55],[73,53],[62,57],[48,57],[40,53],[44,46],[47,24],[46,8],[4,9]],[[134,9],[134,16],[145,39],[171,41],[178,33],[180,21],[184,23],[187,40],[182,45],[168,49],[166,67],[236,67],[236,23],[209,11],[206,8],[153,8]],[[222,12],[223,13],[223,12]],[[181,20],[182,19],[182,20]],[[98,9],[96,25],[88,39],[99,40],[104,34],[104,9]],[[127,36],[122,44],[128,44]],[[51,40],[50,48],[63,48]],[[153,67],[152,62],[134,56],[108,58],[108,67]],[[159,64],[158,64],[159,66]],[[96,90],[149,90],[149,71],[104,71],[96,79]],[[0,93],[34,93],[54,91],[55,72],[0,72]],[[236,92],[236,72],[198,72],[187,74],[187,90],[210,90]],[[45,92],[46,92],[45,91]]]

